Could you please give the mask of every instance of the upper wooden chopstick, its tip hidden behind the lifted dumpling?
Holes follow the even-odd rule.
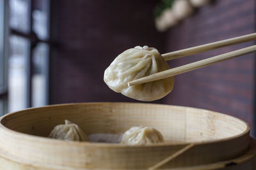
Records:
[[[193,55],[193,54],[201,53],[201,52],[207,52],[209,50],[214,50],[216,48],[221,48],[221,47],[225,47],[225,46],[236,45],[239,43],[252,41],[254,39],[256,39],[256,33],[247,34],[247,35],[239,36],[236,38],[230,38],[230,39],[225,39],[225,40],[221,40],[221,41],[216,41],[214,43],[208,43],[205,45],[194,46],[191,48],[186,48],[184,50],[179,50],[179,51],[175,51],[175,52],[164,53],[164,54],[162,54],[162,56],[163,56],[164,60],[179,59],[180,57],[185,57],[188,55]]]

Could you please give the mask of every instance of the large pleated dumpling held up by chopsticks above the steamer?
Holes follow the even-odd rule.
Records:
[[[174,77],[128,87],[127,83],[150,74],[170,69],[156,48],[136,46],[116,57],[104,73],[108,87],[139,101],[161,99],[172,91]]]

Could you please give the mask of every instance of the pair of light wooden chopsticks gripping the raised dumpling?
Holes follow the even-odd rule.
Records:
[[[236,44],[244,43],[247,41],[253,41],[255,39],[256,39],[256,33],[247,34],[247,35],[239,36],[236,38],[230,38],[230,39],[225,39],[222,41],[216,41],[214,43],[208,43],[205,45],[186,48],[184,50],[179,50],[176,52],[164,53],[162,56],[163,56],[164,60],[179,59],[180,57],[185,57],[188,55],[193,55],[193,54],[201,53],[201,52],[207,52],[209,50],[214,50],[217,48],[230,46],[230,45],[236,45]],[[246,48],[242,48],[240,50],[236,50],[233,52],[216,55],[216,56],[208,58],[208,59],[199,60],[197,62],[192,62],[190,64],[175,67],[173,69],[168,69],[166,71],[161,71],[156,74],[151,74],[149,76],[145,76],[143,78],[139,78],[137,80],[128,82],[128,86],[131,87],[133,85],[139,85],[139,84],[147,83],[150,81],[161,80],[163,78],[168,78],[168,77],[175,76],[178,74],[186,73],[188,71],[193,71],[195,69],[200,69],[205,66],[210,66],[212,64],[215,64],[215,63],[218,63],[218,62],[221,62],[224,60],[233,59],[235,57],[239,57],[241,55],[246,55],[248,53],[253,53],[253,52],[256,52],[256,45],[248,46]]]

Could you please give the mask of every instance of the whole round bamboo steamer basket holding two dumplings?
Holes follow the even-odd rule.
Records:
[[[129,146],[45,138],[67,119],[87,134],[122,134],[135,125],[160,131],[166,143]],[[255,141],[238,118],[164,104],[79,103],[30,108],[0,119],[1,169],[255,169]],[[236,166],[232,166],[233,163]],[[230,166],[231,165],[231,166]],[[205,166],[205,167],[204,167]]]

